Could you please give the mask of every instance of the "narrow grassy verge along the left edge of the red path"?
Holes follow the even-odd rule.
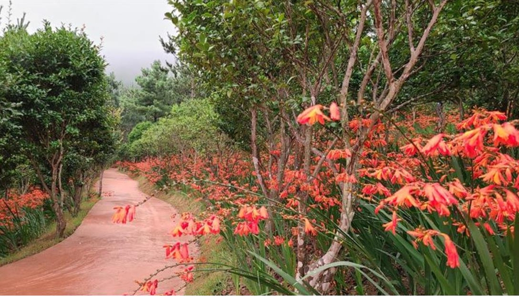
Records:
[[[10,253],[5,258],[0,258],[0,266],[32,256],[33,254],[44,251],[45,249],[62,242],[63,239],[74,233],[81,222],[83,222],[83,219],[87,216],[88,211],[90,211],[98,201],[99,198],[97,196],[83,201],[81,203],[81,210],[76,217],[72,217],[68,212],[65,212],[66,228],[63,238],[56,238],[56,222],[52,222],[47,226],[45,232],[30,244],[20,248],[20,250]]]

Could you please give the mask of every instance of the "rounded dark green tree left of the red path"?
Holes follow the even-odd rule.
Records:
[[[91,123],[104,117],[105,62],[84,32],[53,30],[49,23],[34,34],[7,30],[0,39],[0,61],[12,81],[4,97],[20,103],[21,115],[13,121],[21,127],[20,152],[49,193],[57,235],[62,236],[64,158],[81,136],[92,132]]]

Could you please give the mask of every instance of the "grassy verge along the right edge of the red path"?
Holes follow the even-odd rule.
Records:
[[[144,193],[153,193],[154,188],[143,176],[134,177],[139,182],[139,188]],[[179,212],[192,212],[198,215],[204,206],[200,202],[188,198],[179,191],[159,192],[155,195],[159,200],[171,204]],[[173,227],[172,227],[173,228]],[[204,236],[199,243],[199,259],[203,262],[228,264],[233,260],[231,252],[224,242],[219,242],[220,236]],[[199,270],[212,269],[211,266],[198,266]],[[222,295],[230,294],[233,290],[231,276],[225,272],[199,272],[192,283],[186,286],[185,295]]]

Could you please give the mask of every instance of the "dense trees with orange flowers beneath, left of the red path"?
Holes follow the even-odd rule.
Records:
[[[0,244],[4,251],[28,241],[17,233],[44,205],[63,235],[63,210],[77,214],[84,187],[110,160],[118,119],[107,105],[105,61],[82,31],[45,23],[29,33],[23,19],[8,24],[0,34],[0,65],[0,233],[15,235],[9,247]],[[38,224],[31,237],[46,226]]]

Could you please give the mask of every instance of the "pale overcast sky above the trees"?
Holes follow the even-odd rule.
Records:
[[[2,23],[7,21],[8,4],[0,0]],[[42,27],[44,19],[53,27],[85,25],[95,44],[104,37],[101,53],[108,63],[107,73],[114,72],[128,85],[154,60],[173,60],[159,42],[159,36],[174,32],[171,21],[164,20],[167,11],[171,11],[167,0],[12,0],[11,19],[16,22],[26,12],[30,32]]]

